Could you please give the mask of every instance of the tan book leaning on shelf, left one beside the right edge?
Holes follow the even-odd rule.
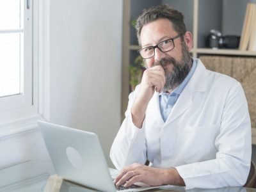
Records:
[[[243,29],[241,33],[239,49],[241,51],[246,51],[248,49],[249,39],[252,32],[253,26],[253,15],[254,15],[254,5],[255,3],[248,3],[246,6],[246,12],[244,16]]]

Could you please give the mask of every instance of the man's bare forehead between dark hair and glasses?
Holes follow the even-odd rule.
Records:
[[[158,19],[143,26],[140,33],[141,46],[155,45],[165,38],[176,36],[172,22],[168,19]]]

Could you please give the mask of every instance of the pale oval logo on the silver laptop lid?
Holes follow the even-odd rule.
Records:
[[[66,154],[68,161],[74,166],[74,168],[83,168],[83,159],[75,148],[67,147]]]

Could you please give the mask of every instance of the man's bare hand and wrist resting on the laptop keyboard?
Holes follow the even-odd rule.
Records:
[[[115,179],[116,186],[124,184],[125,187],[129,187],[135,182],[143,182],[149,186],[164,184],[184,186],[184,180],[175,168],[153,168],[139,163],[125,167]]]

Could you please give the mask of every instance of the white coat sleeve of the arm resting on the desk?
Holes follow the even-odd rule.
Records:
[[[216,159],[177,166],[187,189],[243,186],[250,170],[252,153],[248,106],[241,84],[228,92],[216,137]]]

